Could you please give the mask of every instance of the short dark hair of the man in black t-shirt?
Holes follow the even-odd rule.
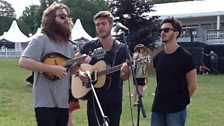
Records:
[[[178,31],[179,35],[177,38],[181,35],[182,33],[182,24],[179,20],[175,19],[174,17],[167,17],[161,22],[161,26],[164,23],[170,23],[173,26],[174,31]]]

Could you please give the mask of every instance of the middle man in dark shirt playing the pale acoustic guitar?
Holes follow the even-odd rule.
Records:
[[[98,12],[94,16],[93,21],[98,39],[87,42],[76,56],[89,54],[89,52],[93,52],[94,49],[101,47],[106,51],[104,58],[97,59],[88,56],[85,62],[89,62],[93,65],[99,60],[103,60],[108,67],[121,65],[119,71],[107,75],[108,78],[111,78],[110,82],[106,82],[103,88],[96,89],[96,94],[102,110],[109,119],[109,126],[119,126],[122,113],[123,81],[127,80],[130,76],[129,66],[126,62],[128,54],[125,44],[112,38],[111,29],[113,27],[113,16],[109,11]],[[80,78],[82,81],[85,80],[82,79],[82,76],[80,76]],[[87,116],[88,126],[105,125],[93,94],[90,95],[87,101]]]

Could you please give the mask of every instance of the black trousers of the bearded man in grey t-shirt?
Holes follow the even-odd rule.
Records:
[[[67,126],[68,109],[35,108],[37,126]]]

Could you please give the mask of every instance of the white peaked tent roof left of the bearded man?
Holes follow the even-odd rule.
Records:
[[[2,35],[2,38],[11,42],[28,42],[29,41],[28,37],[20,31],[16,20],[12,22],[9,30]]]

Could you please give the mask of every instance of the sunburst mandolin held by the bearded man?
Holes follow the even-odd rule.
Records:
[[[105,55],[105,51],[103,50],[103,48],[97,48],[89,55],[91,57],[102,58]],[[49,64],[49,65],[60,65],[60,66],[66,67],[67,71],[69,71],[70,69],[73,69],[73,67],[76,66],[75,65],[76,63],[81,64],[86,57],[87,55],[83,55],[76,58],[68,58],[60,53],[52,52],[52,53],[46,54],[42,58],[41,62],[45,64]],[[53,73],[44,72],[43,75],[44,77],[52,81],[59,79]]]

